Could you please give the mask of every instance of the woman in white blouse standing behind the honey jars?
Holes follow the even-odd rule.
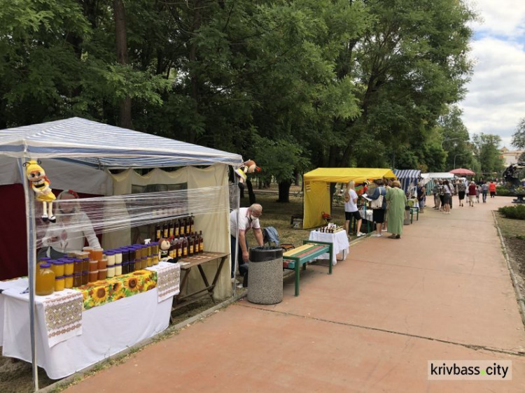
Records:
[[[60,201],[69,201],[60,203]],[[49,224],[42,238],[46,255],[57,257],[57,252],[82,250],[85,239],[93,248],[101,248],[99,239],[94,234],[93,226],[87,215],[80,210],[78,194],[72,190],[62,191],[57,197],[57,222]]]

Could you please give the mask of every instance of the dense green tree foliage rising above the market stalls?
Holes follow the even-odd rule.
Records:
[[[256,158],[283,184],[316,166],[448,170],[472,151],[454,103],[475,17],[457,0],[0,0],[0,128],[121,124],[125,108],[127,127]]]

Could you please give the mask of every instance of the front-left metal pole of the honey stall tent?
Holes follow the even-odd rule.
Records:
[[[29,284],[29,332],[31,336],[31,364],[33,365],[33,384],[34,391],[38,390],[38,364],[36,363],[36,329],[35,329],[35,259],[36,259],[36,230],[34,221],[34,194],[29,190],[29,184],[25,176],[24,162],[22,158],[17,159],[18,171],[20,171],[20,181],[24,186],[25,196],[25,217],[26,217],[26,237],[27,237],[27,276]]]

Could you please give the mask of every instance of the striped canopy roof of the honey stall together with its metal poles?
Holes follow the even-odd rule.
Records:
[[[16,178],[21,179],[22,185],[24,185],[27,263],[30,283],[31,355],[36,389],[38,389],[38,376],[34,329],[34,269],[36,259],[34,193],[30,190],[28,182],[25,181],[25,169],[22,165],[28,159],[61,159],[98,169],[213,166],[222,170],[214,171],[211,176],[220,176],[217,183],[224,185],[228,182],[228,166],[237,167],[242,164],[240,155],[144,134],[139,131],[113,127],[80,117],[4,129],[0,131],[1,156],[12,159],[11,162],[2,161],[6,165],[11,165],[11,170],[15,168],[14,163],[18,164],[18,176]],[[196,173],[191,171],[185,176],[186,178],[195,177]],[[15,178],[10,180],[16,181]],[[197,185],[198,182],[195,184]],[[225,200],[229,204],[228,195],[225,195]],[[229,233],[228,213],[223,213],[223,215],[221,222],[226,224],[220,230]],[[228,239],[225,240],[225,247],[229,249]]]

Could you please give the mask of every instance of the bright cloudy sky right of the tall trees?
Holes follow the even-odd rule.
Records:
[[[468,93],[459,103],[470,134],[510,141],[525,117],[525,0],[470,0],[481,16],[474,22],[470,57],[475,62]]]

